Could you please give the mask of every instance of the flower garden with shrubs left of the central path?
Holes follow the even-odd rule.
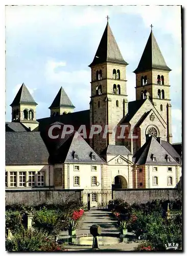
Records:
[[[73,236],[83,215],[82,202],[74,198],[61,204],[7,205],[6,250],[64,251],[63,244],[57,242],[60,231],[67,230]]]

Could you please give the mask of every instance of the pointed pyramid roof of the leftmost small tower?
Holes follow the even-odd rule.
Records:
[[[18,106],[19,104],[37,105],[24,83],[22,83],[10,106]]]

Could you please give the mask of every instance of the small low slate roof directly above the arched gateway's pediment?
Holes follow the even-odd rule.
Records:
[[[126,146],[123,145],[108,145],[101,155],[132,155]]]

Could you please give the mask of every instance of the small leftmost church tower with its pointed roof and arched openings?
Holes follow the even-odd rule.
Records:
[[[24,83],[10,106],[12,107],[12,122],[20,122],[31,131],[38,126],[38,121],[36,121],[37,103]]]

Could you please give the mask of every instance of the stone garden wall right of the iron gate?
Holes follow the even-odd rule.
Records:
[[[175,188],[157,189],[115,189],[112,198],[123,199],[127,203],[147,203],[152,200],[182,200],[182,190]]]

